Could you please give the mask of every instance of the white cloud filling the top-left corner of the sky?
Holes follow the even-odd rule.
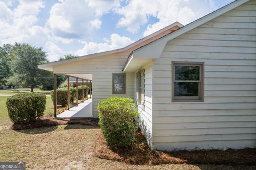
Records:
[[[46,41],[44,29],[35,26],[37,14],[43,7],[42,1],[20,1],[12,11],[0,2],[0,45],[14,42],[37,45]]]

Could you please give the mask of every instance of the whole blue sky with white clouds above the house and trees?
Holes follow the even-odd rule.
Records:
[[[0,0],[0,46],[43,47],[49,61],[129,45],[234,0]]]

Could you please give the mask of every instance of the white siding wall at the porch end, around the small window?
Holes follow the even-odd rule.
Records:
[[[134,98],[134,74],[126,73],[126,94],[112,94],[112,74],[122,72],[126,53],[99,56],[81,61],[60,64],[53,69],[57,74],[92,74],[93,117],[98,117],[98,102],[111,96]]]

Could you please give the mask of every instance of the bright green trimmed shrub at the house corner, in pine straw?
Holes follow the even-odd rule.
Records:
[[[138,128],[138,110],[131,98],[108,98],[98,104],[102,135],[111,147],[130,147]]]

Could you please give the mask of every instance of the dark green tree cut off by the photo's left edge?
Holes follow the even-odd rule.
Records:
[[[4,44],[3,47],[0,46],[0,86],[6,86],[6,78],[11,75],[10,69],[10,55],[11,44]]]

